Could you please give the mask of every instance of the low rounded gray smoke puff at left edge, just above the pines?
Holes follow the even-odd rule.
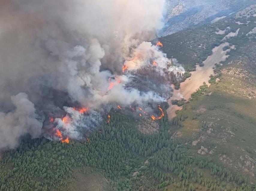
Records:
[[[34,104],[25,93],[11,96],[15,110],[9,113],[0,112],[0,149],[14,148],[19,137],[29,133],[32,138],[41,135],[43,119],[36,114]]]

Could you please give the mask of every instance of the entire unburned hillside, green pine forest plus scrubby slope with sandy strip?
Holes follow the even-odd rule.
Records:
[[[255,27],[252,5],[159,38],[186,69],[161,118],[115,108],[81,141],[22,137],[0,191],[256,191]]]

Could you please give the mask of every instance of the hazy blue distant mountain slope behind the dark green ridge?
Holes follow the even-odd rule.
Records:
[[[254,3],[255,0],[167,0],[165,27],[159,36],[218,21]]]

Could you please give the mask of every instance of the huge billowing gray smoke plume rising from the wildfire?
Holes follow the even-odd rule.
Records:
[[[43,124],[32,103],[41,118],[52,116],[64,128],[58,122],[63,116],[56,113],[70,113],[63,108],[70,103],[98,110],[113,102],[163,101],[154,92],[125,89],[129,77],[122,67],[136,70],[152,59],[163,67],[168,61],[158,47],[144,42],[162,28],[164,5],[165,0],[1,1],[0,143],[6,142],[1,147],[15,147],[24,133],[40,135]],[[180,67],[169,70],[183,72]],[[113,88],[110,82],[116,83]],[[24,113],[21,95],[29,103]],[[66,127],[67,134],[72,128]]]

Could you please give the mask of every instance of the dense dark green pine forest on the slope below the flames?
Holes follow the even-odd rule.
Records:
[[[92,167],[109,181],[107,190],[255,191],[240,173],[210,158],[190,156],[186,144],[171,139],[166,115],[158,121],[156,134],[143,135],[137,123],[112,111],[110,123],[98,127],[87,141],[23,141],[17,150],[3,153],[0,189],[63,190],[76,182],[75,169],[86,174]]]

